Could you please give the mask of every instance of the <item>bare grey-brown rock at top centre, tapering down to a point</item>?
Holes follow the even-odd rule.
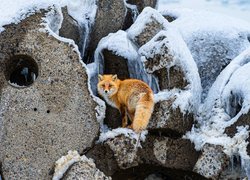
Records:
[[[95,24],[92,27],[88,45],[89,59],[93,58],[93,53],[101,38],[122,29],[126,17],[124,0],[99,0],[97,7]]]

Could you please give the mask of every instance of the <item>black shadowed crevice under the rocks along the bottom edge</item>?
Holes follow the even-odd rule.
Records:
[[[179,169],[170,169],[162,166],[142,164],[125,170],[117,171],[113,180],[144,180],[144,179],[164,179],[164,180],[205,180],[207,178],[191,172]]]

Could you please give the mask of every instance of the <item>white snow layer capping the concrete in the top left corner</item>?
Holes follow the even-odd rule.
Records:
[[[94,21],[96,5],[95,0],[2,0],[0,5],[0,32],[3,26],[10,23],[18,23],[25,17],[39,9],[57,8],[67,6],[69,14],[82,24],[86,19]]]

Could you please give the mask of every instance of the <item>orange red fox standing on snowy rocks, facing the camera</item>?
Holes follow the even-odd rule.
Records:
[[[119,109],[122,127],[132,128],[136,133],[147,128],[154,109],[151,88],[138,79],[120,80],[117,75],[98,75],[98,93],[105,101]],[[128,126],[128,117],[132,124]]]

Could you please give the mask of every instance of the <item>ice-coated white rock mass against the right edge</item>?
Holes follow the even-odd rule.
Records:
[[[250,110],[250,47],[237,56],[218,76],[200,108],[199,126],[187,134],[197,149],[205,143],[221,145],[224,152],[241,156],[244,168],[249,170],[246,139],[249,125],[237,128],[234,137],[227,136],[225,128],[234,124]],[[235,109],[241,106],[239,112]]]

